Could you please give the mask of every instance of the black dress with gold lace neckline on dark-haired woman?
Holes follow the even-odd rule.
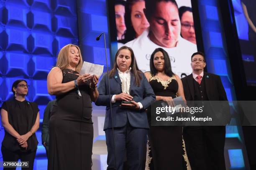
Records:
[[[178,91],[178,82],[175,76],[166,81],[159,77],[150,76],[149,84],[156,96],[171,96],[175,98]],[[149,126],[148,140],[153,156],[154,170],[182,170],[182,126],[151,126],[150,109],[148,110]],[[152,166],[150,169],[152,170]]]

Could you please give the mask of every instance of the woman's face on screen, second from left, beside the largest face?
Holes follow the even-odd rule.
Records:
[[[131,6],[131,23],[136,33],[136,38],[149,27],[148,20],[144,15],[145,1],[138,1]]]

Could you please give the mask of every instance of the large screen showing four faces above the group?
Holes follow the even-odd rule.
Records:
[[[151,53],[163,48],[175,74],[191,74],[191,55],[197,52],[191,7],[190,0],[108,0],[112,63],[118,48],[128,46],[138,68],[150,71]]]

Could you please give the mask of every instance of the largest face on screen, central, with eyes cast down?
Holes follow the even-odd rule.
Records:
[[[175,47],[180,35],[179,12],[172,2],[161,1],[156,3],[154,14],[149,20],[151,41],[159,46]]]

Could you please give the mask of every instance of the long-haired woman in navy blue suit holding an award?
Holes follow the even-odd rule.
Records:
[[[105,74],[98,87],[98,106],[106,106],[104,131],[108,147],[107,170],[123,170],[125,153],[129,170],[142,170],[145,167],[145,148],[147,142],[148,121],[145,109],[155,101],[156,96],[144,74],[138,70],[133,50],[121,47],[115,55],[113,69]],[[112,103],[115,154],[110,114]],[[122,101],[131,100],[131,104]],[[126,152],[125,152],[126,151]]]

